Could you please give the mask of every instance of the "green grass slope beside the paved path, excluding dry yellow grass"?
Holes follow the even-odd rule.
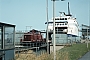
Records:
[[[79,43],[74,44],[70,47],[65,47],[58,52],[64,52],[66,51],[68,53],[69,60],[78,60],[78,58],[82,57],[86,52],[90,50],[90,44],[89,48],[86,47],[85,43]]]

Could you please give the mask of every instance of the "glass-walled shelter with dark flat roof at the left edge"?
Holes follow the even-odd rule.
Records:
[[[15,58],[15,25],[0,22],[0,60]]]

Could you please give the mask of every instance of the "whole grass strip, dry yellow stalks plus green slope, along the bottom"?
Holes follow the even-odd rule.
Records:
[[[89,47],[86,47],[85,43],[73,44],[72,46],[65,46],[64,48],[56,52],[56,60],[78,60],[85,53],[90,51]],[[53,60],[53,53],[44,53],[40,56],[34,54],[20,54],[16,60]]]

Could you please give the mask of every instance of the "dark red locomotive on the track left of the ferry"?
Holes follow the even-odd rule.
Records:
[[[41,32],[38,30],[31,30],[30,32],[24,33],[23,39],[21,39],[22,43],[24,42],[45,42]]]

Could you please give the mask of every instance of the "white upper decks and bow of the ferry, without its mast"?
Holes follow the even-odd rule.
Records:
[[[72,16],[55,17],[55,30],[58,33],[78,36],[78,22]],[[53,19],[48,22],[48,31],[53,31]]]

